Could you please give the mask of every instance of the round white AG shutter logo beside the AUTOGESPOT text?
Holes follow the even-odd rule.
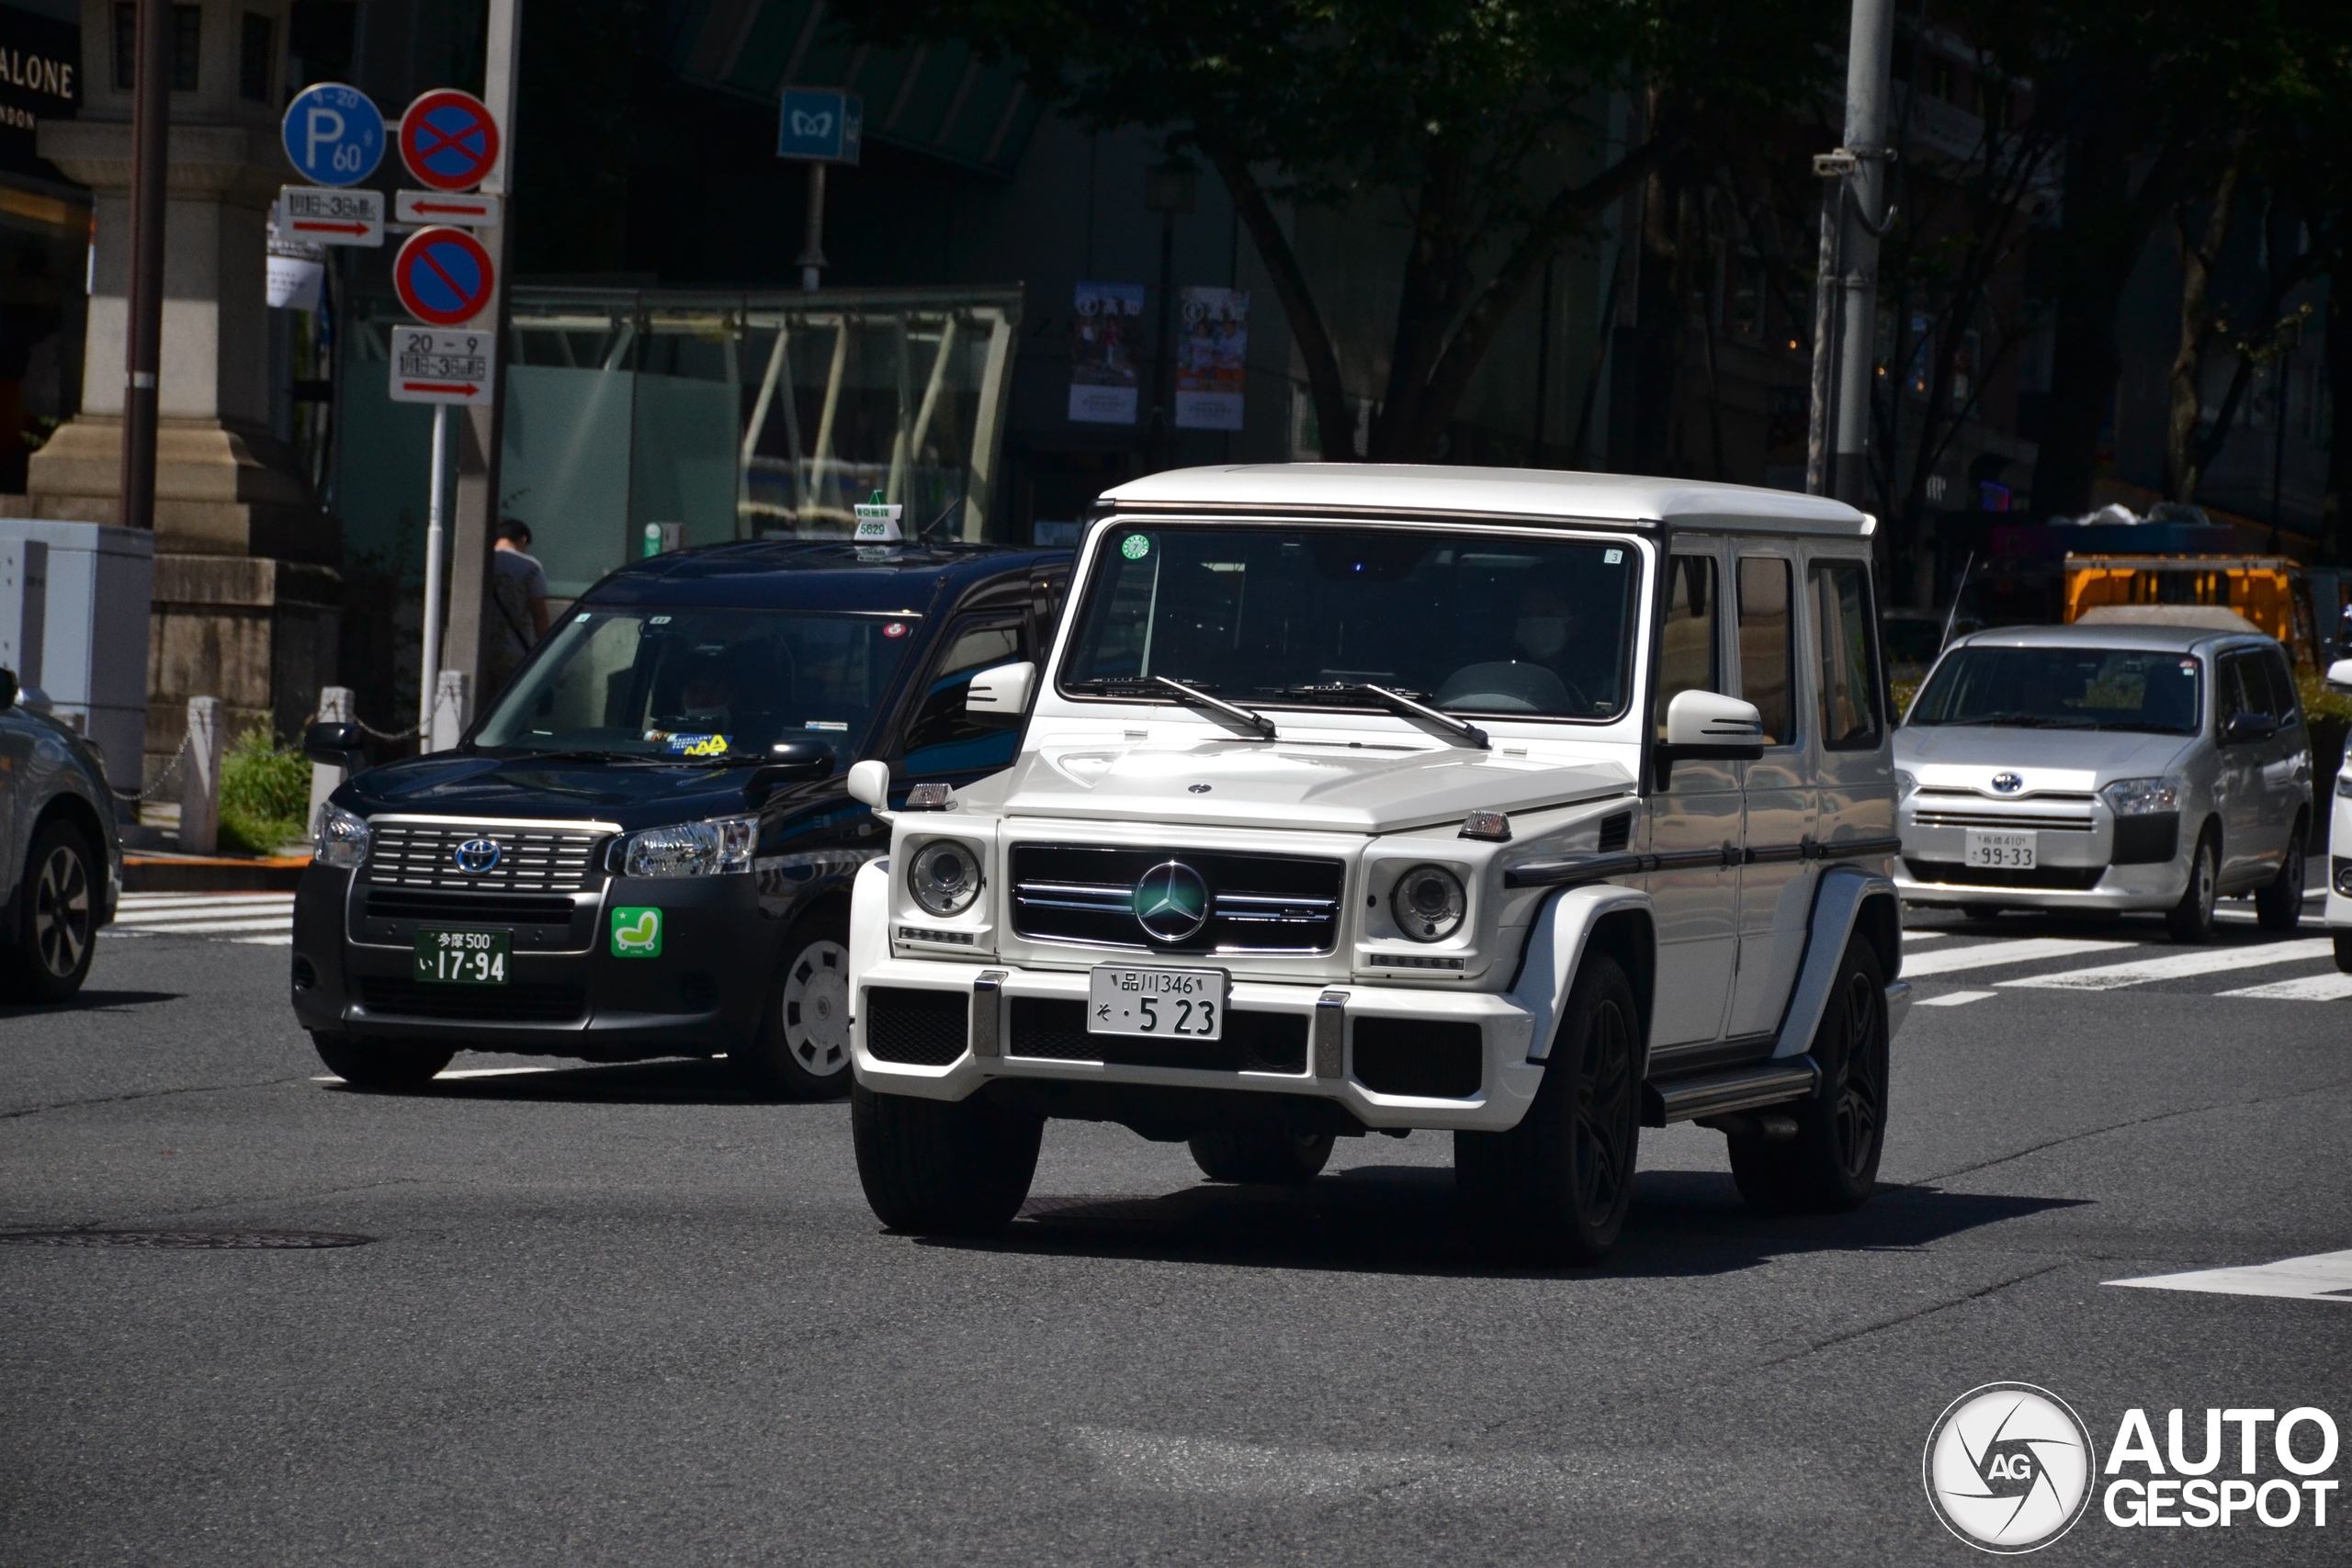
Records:
[[[1943,1526],[1980,1552],[2039,1552],[2091,1507],[2098,1455],[2063,1399],[2030,1382],[1969,1389],[1926,1434],[1922,1474]]]

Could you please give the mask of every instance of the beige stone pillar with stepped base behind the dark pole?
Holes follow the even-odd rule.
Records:
[[[336,520],[270,435],[266,230],[278,186],[296,179],[278,143],[292,7],[205,0],[179,9],[195,9],[200,28],[195,87],[172,92],[151,778],[179,745],[162,731],[191,696],[226,701],[228,736],[256,719],[285,736],[303,719],[334,679],[343,552]],[[96,256],[82,411],[33,454],[35,517],[120,520],[132,99],[115,82],[113,31],[115,5],[82,0],[82,118],[40,127],[42,158],[92,188]]]

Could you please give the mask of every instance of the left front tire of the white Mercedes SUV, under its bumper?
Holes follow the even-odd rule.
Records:
[[[858,1185],[891,1229],[981,1237],[1004,1229],[1037,1175],[1044,1117],[971,1100],[849,1091]]]

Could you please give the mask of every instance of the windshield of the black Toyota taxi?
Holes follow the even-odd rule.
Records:
[[[781,609],[588,609],[501,693],[475,745],[724,757],[814,738],[847,766],[915,625]]]

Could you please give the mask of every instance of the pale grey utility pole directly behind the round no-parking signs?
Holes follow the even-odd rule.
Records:
[[[449,628],[442,635],[440,668],[463,670],[473,682],[473,708],[480,712],[492,693],[482,689],[482,604],[489,592],[489,548],[499,527],[499,444],[506,440],[506,301],[515,270],[515,195],[508,169],[515,165],[515,71],[522,42],[522,0],[489,0],[489,28],[482,49],[482,103],[499,122],[499,162],[482,181],[485,195],[499,197],[499,226],[477,230],[482,249],[496,261],[496,287],[475,327],[496,336],[499,355],[492,369],[487,407],[463,409],[456,442],[454,527],[449,538]],[[433,691],[421,693],[423,703]],[[430,736],[423,741],[430,748]]]

